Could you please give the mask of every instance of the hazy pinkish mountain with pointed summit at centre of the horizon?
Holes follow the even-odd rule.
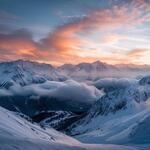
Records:
[[[113,65],[96,61],[93,63],[80,63],[77,65],[65,64],[58,70],[75,80],[93,80],[98,77],[107,76],[108,72],[116,72],[118,68]],[[112,74],[113,76],[113,74]]]

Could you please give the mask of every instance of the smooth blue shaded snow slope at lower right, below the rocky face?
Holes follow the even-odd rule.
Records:
[[[76,138],[86,143],[150,144],[150,108],[133,113],[132,108],[91,119],[77,127],[85,133]],[[83,131],[82,131],[83,132]]]

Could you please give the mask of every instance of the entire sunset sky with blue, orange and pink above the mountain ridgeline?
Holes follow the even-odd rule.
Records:
[[[0,0],[0,61],[150,65],[150,0]]]

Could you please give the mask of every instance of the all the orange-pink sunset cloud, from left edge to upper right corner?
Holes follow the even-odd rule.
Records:
[[[109,63],[133,62],[137,57],[143,55],[142,49],[132,50],[127,55],[121,54],[121,52],[110,55],[98,53],[94,57],[89,55],[83,57],[84,55],[81,55],[80,51],[84,50],[86,53],[89,43],[86,36],[90,36],[95,31],[124,29],[150,21],[149,14],[143,13],[143,9],[146,11],[149,9],[148,6],[149,3],[145,3],[144,0],[133,0],[129,4],[113,6],[111,9],[97,9],[82,18],[76,18],[72,22],[56,28],[39,42],[35,42],[31,33],[25,30],[0,34],[0,59],[26,58],[56,65],[92,62],[97,59]],[[119,39],[119,35],[111,33],[105,34],[101,38],[105,44],[112,44]],[[90,52],[92,53],[92,50]]]

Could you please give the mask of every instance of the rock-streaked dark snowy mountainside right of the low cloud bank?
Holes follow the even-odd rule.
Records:
[[[120,110],[129,107],[140,106],[140,103],[146,101],[150,97],[150,88],[130,86],[126,89],[118,89],[105,94],[100,98],[91,109],[91,117],[99,115],[115,114]],[[136,106],[135,106],[136,105]]]

